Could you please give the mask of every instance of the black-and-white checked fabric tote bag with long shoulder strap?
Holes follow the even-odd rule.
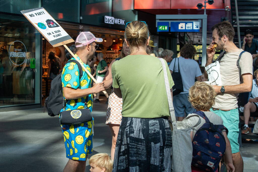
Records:
[[[191,128],[199,125],[201,119],[199,115],[192,115],[199,117],[199,121],[194,126],[186,123],[186,120],[190,117],[186,117],[183,121],[176,121],[175,110],[173,106],[173,100],[170,92],[170,86],[168,82],[166,63],[163,58],[160,58],[160,62],[163,66],[168,107],[170,112],[171,120],[170,127],[172,130],[172,165],[171,171],[173,172],[191,172],[191,162],[192,162],[192,142],[190,137]]]

